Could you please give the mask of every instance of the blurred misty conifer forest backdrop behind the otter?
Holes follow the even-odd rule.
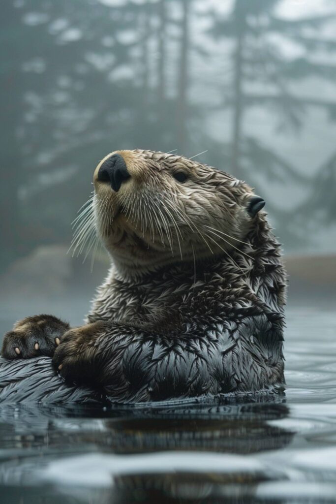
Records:
[[[4,330],[80,323],[108,260],[66,255],[71,222],[115,149],[207,151],[265,199],[293,297],[335,294],[334,0],[5,0],[1,24]]]

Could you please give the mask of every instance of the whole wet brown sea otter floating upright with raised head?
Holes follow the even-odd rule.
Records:
[[[23,375],[29,386],[32,357],[51,395],[74,400],[77,387],[80,401],[84,386],[128,403],[281,386],[286,273],[264,201],[228,173],[148,150],[108,154],[93,181],[75,247],[94,228],[108,276],[84,326],[42,314],[5,335],[0,400]],[[33,383],[43,401],[36,372]]]

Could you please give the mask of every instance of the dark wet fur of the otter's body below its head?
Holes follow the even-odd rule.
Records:
[[[265,214],[252,219],[245,244],[229,255],[137,281],[111,274],[85,326],[68,330],[45,315],[18,323],[4,340],[3,355],[15,360],[0,364],[0,401],[138,403],[281,387],[287,278]],[[35,340],[48,342],[53,365],[22,358],[43,353]]]

